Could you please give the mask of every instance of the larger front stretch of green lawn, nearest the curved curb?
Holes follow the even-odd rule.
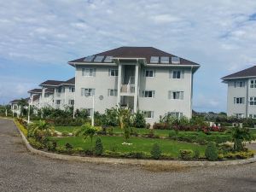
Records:
[[[85,141],[82,137],[53,137],[57,143],[57,146],[64,146],[66,143],[72,144],[73,148],[84,148],[90,149],[90,138]],[[150,153],[152,145],[158,143],[162,150],[162,153],[170,154],[174,158],[178,157],[179,149],[192,149],[198,148],[201,154],[204,154],[205,146],[198,145],[195,143],[182,143],[177,141],[172,141],[168,139],[153,139],[153,138],[142,138],[142,137],[131,137],[129,143],[132,145],[122,145],[124,143],[123,137],[108,137],[101,136],[104,150],[111,150],[115,148],[117,152],[148,152]],[[96,137],[94,137],[92,142],[92,147],[94,147]]]

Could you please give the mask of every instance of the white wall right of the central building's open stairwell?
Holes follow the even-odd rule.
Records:
[[[159,120],[160,115],[168,112],[183,113],[184,116],[191,118],[191,70],[190,68],[180,68],[184,70],[183,79],[170,78],[170,70],[173,67],[147,67],[154,70],[153,78],[143,77],[142,68],[140,73],[140,95],[139,110],[154,111],[154,118],[147,119],[148,123],[154,123]],[[172,77],[172,75],[171,75]],[[143,90],[154,90],[154,98],[143,97]],[[183,91],[183,100],[173,100],[168,98],[168,91]]]

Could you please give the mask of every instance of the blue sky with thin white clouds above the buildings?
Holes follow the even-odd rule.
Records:
[[[201,64],[193,108],[226,111],[222,77],[256,64],[255,0],[0,0],[0,104],[67,64],[120,46],[153,46]]]

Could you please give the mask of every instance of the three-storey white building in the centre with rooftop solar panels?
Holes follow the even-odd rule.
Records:
[[[199,64],[153,47],[119,47],[68,62],[75,67],[74,108],[104,113],[116,105],[160,115],[192,116],[193,76]]]

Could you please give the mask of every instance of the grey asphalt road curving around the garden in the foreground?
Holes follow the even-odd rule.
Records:
[[[14,123],[0,119],[0,191],[256,191],[256,164],[154,172],[30,154]]]

